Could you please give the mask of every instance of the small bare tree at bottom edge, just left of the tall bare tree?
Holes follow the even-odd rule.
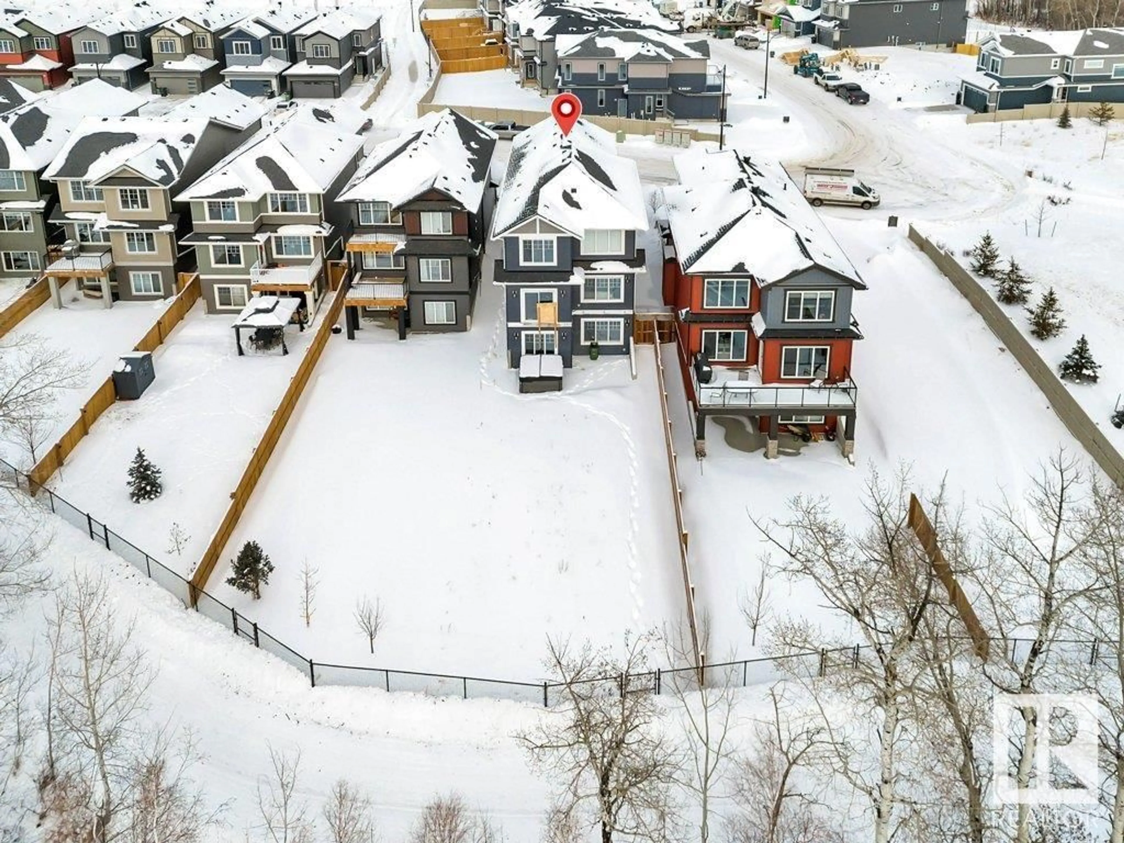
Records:
[[[798,781],[804,768],[823,761],[822,726],[794,716],[782,691],[769,689],[772,718],[758,723],[754,745],[737,759],[734,812],[726,823],[729,843],[835,843],[842,835],[824,818],[818,799]]]

